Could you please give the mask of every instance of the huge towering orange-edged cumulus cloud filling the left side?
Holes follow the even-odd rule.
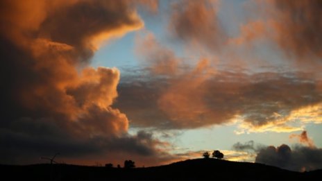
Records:
[[[144,26],[134,3],[1,1],[1,164],[55,152],[111,161],[114,153],[154,154],[158,141],[128,135],[126,115],[111,107],[119,71],[87,67],[104,40]]]

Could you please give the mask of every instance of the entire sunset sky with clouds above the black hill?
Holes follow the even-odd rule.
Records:
[[[1,1],[0,164],[322,169],[322,3]]]

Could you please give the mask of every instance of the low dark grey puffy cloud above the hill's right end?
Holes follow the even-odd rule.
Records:
[[[269,146],[257,153],[255,162],[278,166],[291,171],[312,171],[322,168],[322,149],[286,144],[275,148]]]

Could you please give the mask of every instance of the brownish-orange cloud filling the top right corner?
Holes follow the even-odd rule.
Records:
[[[318,65],[322,56],[322,3],[314,1],[257,1],[246,3],[246,10],[255,17],[240,26],[239,37],[230,40],[235,44],[248,44],[257,39],[269,40],[278,45],[289,60],[299,60],[301,68]]]

